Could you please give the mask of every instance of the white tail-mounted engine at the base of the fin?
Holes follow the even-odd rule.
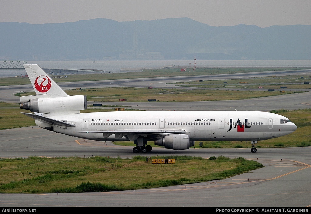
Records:
[[[21,102],[21,109],[38,113],[77,112],[87,107],[86,96],[74,95],[55,98],[36,98]]]

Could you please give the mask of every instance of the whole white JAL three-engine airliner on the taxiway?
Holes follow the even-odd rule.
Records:
[[[117,111],[80,113],[86,96],[70,96],[37,64],[24,64],[36,95],[20,98],[22,114],[53,132],[96,141],[133,141],[133,153],[149,153],[148,141],[173,150],[195,141],[250,141],[281,137],[297,126],[288,118],[260,111]]]

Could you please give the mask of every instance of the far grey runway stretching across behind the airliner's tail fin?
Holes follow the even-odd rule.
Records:
[[[220,74],[220,75],[202,75],[202,76],[177,76],[177,77],[157,77],[157,78],[140,78],[140,79],[123,79],[123,80],[99,80],[99,81],[85,81],[85,82],[66,82],[58,83],[62,89],[76,89],[76,88],[107,88],[107,87],[157,87],[157,88],[186,88],[180,87],[174,84],[177,82],[187,82],[196,80],[232,80],[232,79],[244,79],[254,78],[262,76],[284,76],[284,75],[311,75],[311,70],[296,70],[296,71],[262,71],[262,72],[249,72],[239,74]],[[196,88],[197,89],[197,88]],[[204,89],[204,88],[200,88]],[[217,88],[219,89],[219,88]],[[221,89],[221,90],[233,90],[233,89]],[[239,89],[243,90],[243,89]],[[250,90],[250,89],[245,89]],[[262,90],[262,89],[251,89],[251,90]],[[265,90],[265,89],[263,89]],[[291,89],[292,91],[301,91],[301,89]],[[311,89],[304,89],[304,91],[310,91]],[[3,102],[19,102],[19,97],[14,94],[19,92],[34,91],[31,84],[27,85],[10,85],[0,86],[0,101]]]

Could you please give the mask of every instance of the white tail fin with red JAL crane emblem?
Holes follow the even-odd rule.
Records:
[[[37,95],[45,94],[44,97],[68,96],[37,64],[24,64],[24,68]]]

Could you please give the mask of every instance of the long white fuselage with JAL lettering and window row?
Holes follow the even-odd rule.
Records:
[[[129,140],[122,134],[103,134],[115,130],[184,130],[191,141],[244,141],[276,138],[297,129],[284,116],[257,111],[121,111],[51,118],[76,125],[67,128],[54,125],[55,132],[100,141]],[[37,120],[36,124],[42,128],[48,125]]]

